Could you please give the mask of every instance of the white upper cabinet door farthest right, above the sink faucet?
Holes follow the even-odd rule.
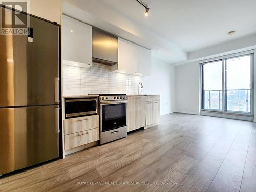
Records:
[[[142,76],[151,75],[151,50],[137,47],[137,73]]]

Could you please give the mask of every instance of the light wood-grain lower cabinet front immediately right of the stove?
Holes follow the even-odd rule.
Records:
[[[128,97],[128,131],[144,127],[146,124],[145,96]]]

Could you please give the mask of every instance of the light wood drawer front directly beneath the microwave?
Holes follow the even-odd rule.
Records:
[[[64,134],[91,130],[99,127],[99,115],[64,119]]]

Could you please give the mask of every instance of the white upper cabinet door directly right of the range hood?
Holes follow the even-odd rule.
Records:
[[[133,74],[137,71],[136,49],[132,42],[118,38],[118,70]]]

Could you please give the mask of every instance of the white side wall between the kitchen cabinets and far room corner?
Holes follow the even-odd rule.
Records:
[[[175,112],[174,66],[152,59],[152,74],[144,77],[144,94],[160,94],[161,115]]]

